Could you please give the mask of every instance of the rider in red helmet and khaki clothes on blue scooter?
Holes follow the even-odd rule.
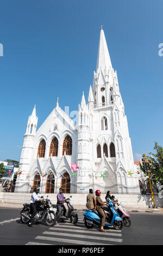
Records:
[[[105,213],[103,210],[103,205],[107,205],[106,202],[103,202],[103,200],[100,198],[101,192],[100,190],[96,190],[96,210],[99,213],[99,216],[101,216],[101,232],[106,232],[104,230],[104,225],[105,225]]]

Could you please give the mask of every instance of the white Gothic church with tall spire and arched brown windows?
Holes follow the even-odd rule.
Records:
[[[58,101],[39,129],[37,120],[34,107],[24,134],[17,191],[23,184],[45,184],[46,193],[53,193],[54,187],[69,193],[74,186],[90,184],[139,186],[117,73],[102,28],[93,84],[87,102],[83,93],[78,122]],[[79,170],[72,171],[71,163]]]

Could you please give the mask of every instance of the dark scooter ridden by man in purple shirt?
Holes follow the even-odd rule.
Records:
[[[72,196],[70,196],[70,198],[72,198]],[[74,212],[74,207],[70,204],[71,199],[67,198],[65,199],[65,203],[67,204],[68,207],[68,213],[66,214],[65,218],[66,219],[70,219],[70,222],[73,224],[76,224],[78,222],[78,215],[76,212]],[[57,209],[57,205],[52,205],[55,209]],[[56,211],[56,215],[57,215],[58,211]],[[63,216],[64,210],[62,209],[61,211],[61,215],[60,215],[60,219],[64,220],[64,216]]]

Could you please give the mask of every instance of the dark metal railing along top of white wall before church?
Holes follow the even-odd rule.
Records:
[[[48,184],[43,183],[40,184],[40,193],[59,193],[60,186],[55,186],[55,184],[51,184],[51,186],[48,186]],[[88,194],[89,189],[92,188],[93,192],[98,189],[101,191],[102,194],[106,194],[108,190],[110,190],[111,194],[147,194],[151,195],[151,189],[149,188],[140,188],[139,185],[137,186],[125,186],[124,184],[114,184],[112,186],[104,186],[102,184],[87,184],[85,186],[76,185],[73,183],[66,183],[64,186],[62,186],[63,192],[65,194],[71,193],[71,194]],[[30,185],[29,183],[24,183],[21,186],[15,186],[14,189],[11,190],[11,192],[17,192],[17,193],[33,193],[34,187]],[[158,190],[154,189],[154,194],[158,194]]]

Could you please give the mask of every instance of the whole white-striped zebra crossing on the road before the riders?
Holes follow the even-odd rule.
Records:
[[[53,245],[120,245],[122,242],[121,230],[112,227],[106,233],[99,232],[96,228],[87,229],[83,222],[83,216],[78,216],[78,223],[73,224],[70,220],[54,225],[49,231],[44,231],[41,236],[36,236],[38,242],[28,242],[26,245],[48,245],[52,241]],[[75,233],[75,234],[74,234]],[[98,235],[98,236],[97,236]],[[45,240],[41,242],[41,240]],[[47,242],[47,243],[46,243]]]

